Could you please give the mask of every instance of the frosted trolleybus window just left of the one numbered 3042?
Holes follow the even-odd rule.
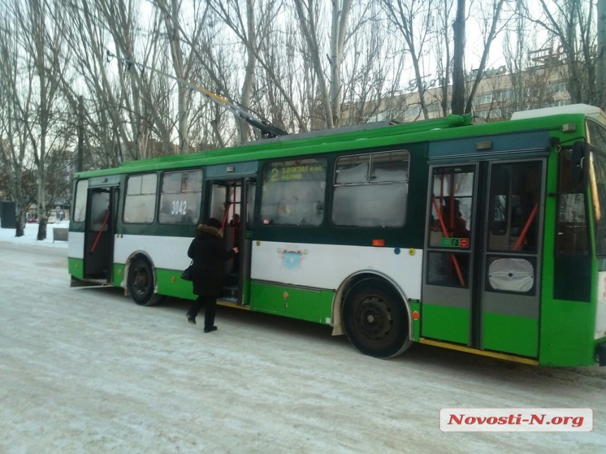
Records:
[[[156,215],[156,186],[158,175],[133,175],[126,179],[124,222],[151,224]]]

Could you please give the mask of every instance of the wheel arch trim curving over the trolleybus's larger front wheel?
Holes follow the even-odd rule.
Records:
[[[347,297],[347,292],[350,291],[352,286],[366,279],[378,279],[383,281],[385,283],[386,288],[391,288],[393,291],[396,292],[397,295],[400,296],[400,298],[402,298],[402,303],[404,304],[404,309],[406,310],[408,318],[407,336],[408,340],[412,342],[412,308],[410,307],[408,298],[404,293],[404,290],[402,290],[402,287],[400,287],[400,285],[398,285],[395,280],[390,278],[388,275],[385,275],[384,273],[378,272],[376,270],[361,270],[355,272],[354,274],[349,275],[346,279],[344,279],[343,282],[341,282],[340,286],[338,287],[335,293],[335,298],[333,299],[333,336],[340,336],[342,334],[345,334],[345,332],[343,331],[342,308],[343,303],[345,303],[345,298]]]

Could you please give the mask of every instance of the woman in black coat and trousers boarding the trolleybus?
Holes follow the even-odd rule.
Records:
[[[217,329],[214,326],[217,298],[221,296],[223,279],[225,278],[225,260],[237,254],[237,248],[225,251],[223,248],[223,232],[221,222],[211,217],[206,224],[198,226],[198,234],[193,239],[187,256],[192,258],[192,284],[196,302],[187,311],[187,321],[196,323],[196,316],[202,307],[206,306],[204,314],[204,332]]]

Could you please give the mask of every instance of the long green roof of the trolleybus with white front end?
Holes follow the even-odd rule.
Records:
[[[523,130],[550,128],[559,130],[563,123],[582,121],[584,117],[581,117],[581,115],[597,117],[596,120],[606,125],[606,116],[599,108],[583,104],[519,112],[514,114],[512,120],[522,121],[490,122],[479,125],[473,124],[470,115],[448,115],[445,118],[433,118],[396,125],[380,122],[357,127],[338,128],[337,130],[289,134],[224,149],[131,160],[120,163],[118,168],[87,170],[77,172],[75,176],[77,178],[96,177],[144,170],[213,165],[228,161],[259,160],[277,156],[287,158],[343,149],[354,151],[371,146],[388,146],[402,143],[404,139],[407,143],[412,144],[418,141],[479,137],[486,134],[507,134],[508,132]]]

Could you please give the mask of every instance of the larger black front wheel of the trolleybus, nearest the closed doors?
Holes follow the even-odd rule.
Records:
[[[345,296],[345,334],[361,353],[392,358],[410,345],[408,315],[402,298],[380,279],[364,279]]]

